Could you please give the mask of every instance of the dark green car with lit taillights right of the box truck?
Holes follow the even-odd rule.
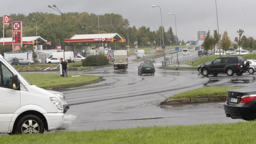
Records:
[[[138,66],[138,75],[142,75],[142,74],[153,74],[155,73],[156,69],[153,65],[153,63],[151,62],[142,62],[139,66]]]

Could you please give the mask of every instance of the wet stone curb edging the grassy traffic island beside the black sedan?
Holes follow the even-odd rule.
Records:
[[[214,102],[223,101],[226,97],[212,97],[212,98],[180,98],[180,99],[168,99],[160,103],[160,105],[173,105],[173,104],[193,104],[201,102]]]

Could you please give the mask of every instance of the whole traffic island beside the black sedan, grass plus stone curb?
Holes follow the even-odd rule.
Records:
[[[225,101],[228,90],[239,89],[242,87],[228,87],[228,86],[211,86],[202,87],[194,90],[189,90],[179,94],[175,94],[160,105],[176,105],[176,104],[193,104],[202,102],[217,102]]]

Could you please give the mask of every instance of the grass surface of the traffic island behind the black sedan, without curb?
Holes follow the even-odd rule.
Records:
[[[226,97],[228,90],[239,89],[242,87],[228,87],[228,86],[211,86],[202,87],[194,90],[185,91],[175,94],[168,99],[179,98],[208,98],[208,97]]]

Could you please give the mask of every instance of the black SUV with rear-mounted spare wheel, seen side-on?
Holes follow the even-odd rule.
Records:
[[[242,75],[250,67],[250,63],[243,56],[227,56],[215,58],[211,64],[203,65],[201,68],[202,74],[214,76],[219,73],[226,73],[228,76],[235,74]]]

